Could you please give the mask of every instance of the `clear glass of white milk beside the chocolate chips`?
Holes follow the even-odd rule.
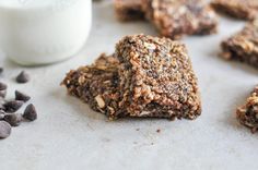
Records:
[[[92,22],[92,0],[0,0],[0,49],[22,65],[74,56]]]

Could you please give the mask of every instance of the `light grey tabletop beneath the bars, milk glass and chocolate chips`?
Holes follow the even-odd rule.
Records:
[[[258,134],[241,126],[234,112],[258,83],[258,71],[218,58],[220,41],[242,26],[242,22],[221,19],[219,35],[184,39],[202,93],[203,112],[196,121],[108,122],[59,86],[68,70],[93,62],[101,52],[114,51],[122,36],[156,34],[144,22],[117,22],[107,2],[94,5],[90,39],[75,58],[55,65],[20,68],[1,57],[5,68],[1,80],[10,84],[9,97],[14,89],[31,94],[39,118],[0,141],[0,169],[257,169]],[[21,70],[32,74],[32,82],[14,83]]]

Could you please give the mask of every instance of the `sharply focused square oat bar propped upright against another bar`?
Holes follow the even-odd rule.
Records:
[[[119,108],[130,117],[196,119],[201,101],[186,47],[168,38],[126,36],[116,46]]]

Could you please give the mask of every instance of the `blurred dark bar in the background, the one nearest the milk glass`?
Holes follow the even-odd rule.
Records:
[[[133,21],[144,19],[142,0],[115,0],[115,12],[120,21]]]

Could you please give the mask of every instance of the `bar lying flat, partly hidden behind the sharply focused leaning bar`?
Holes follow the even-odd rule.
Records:
[[[87,102],[93,110],[115,119],[118,117],[118,60],[103,53],[94,64],[70,71],[62,84],[69,94]]]

